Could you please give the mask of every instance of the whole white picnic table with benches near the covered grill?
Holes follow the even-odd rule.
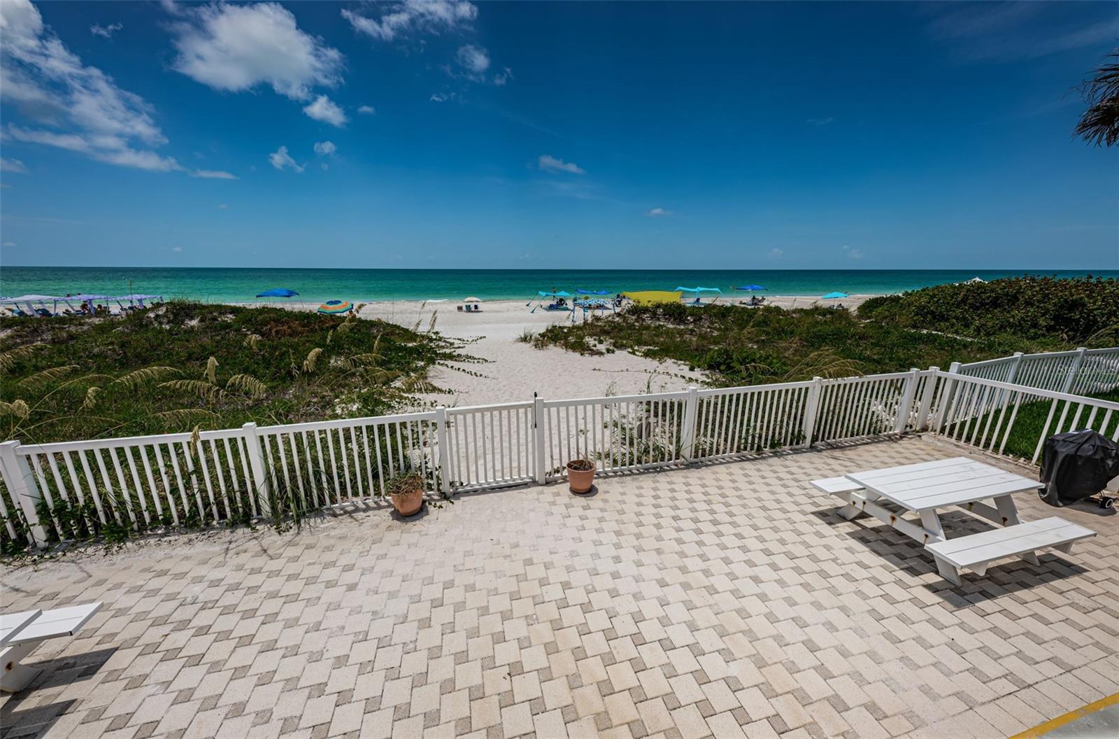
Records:
[[[961,584],[960,568],[968,567],[984,574],[989,562],[1018,554],[1040,564],[1035,550],[1055,546],[1068,552],[1072,542],[1096,535],[1090,528],[1056,516],[1023,524],[1014,505],[1014,494],[1044,486],[967,457],[849,473],[812,480],[812,485],[844,499],[846,505],[839,508],[844,518],[849,521],[869,514],[924,544],[935,558],[940,574],[956,584]],[[903,511],[890,509],[882,505],[883,502],[893,503]],[[953,506],[963,507],[1003,528],[948,540],[938,512]],[[920,525],[902,518],[905,512],[918,514]]]

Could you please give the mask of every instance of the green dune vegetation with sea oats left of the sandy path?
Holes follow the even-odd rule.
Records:
[[[0,319],[0,436],[43,443],[376,415],[462,358],[384,321],[170,302],[110,318]]]

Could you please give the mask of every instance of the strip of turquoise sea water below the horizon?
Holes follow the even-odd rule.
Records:
[[[250,302],[269,288],[298,290],[295,300],[527,300],[537,290],[671,290],[703,286],[730,292],[734,284],[762,284],[771,294],[821,296],[833,290],[888,293],[974,277],[993,280],[1022,270],[308,270],[195,268],[7,266],[0,294],[129,292],[209,302]],[[1087,272],[1032,274],[1081,277]],[[1119,278],[1119,271],[1093,272]]]

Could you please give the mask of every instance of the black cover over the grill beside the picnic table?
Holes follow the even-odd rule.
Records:
[[[1045,440],[1041,496],[1057,507],[1096,495],[1119,475],[1119,445],[1091,429]]]

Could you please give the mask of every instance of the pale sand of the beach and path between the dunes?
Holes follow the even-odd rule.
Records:
[[[801,308],[841,302],[848,308],[857,308],[872,297],[856,294],[841,301],[819,301],[807,296],[771,296],[767,303]],[[360,301],[355,303],[361,305]],[[309,303],[288,305],[297,310],[316,308]],[[459,311],[461,305],[451,300],[378,301],[366,303],[359,312],[363,318],[379,318],[408,328],[419,325],[420,330],[427,330],[435,314],[436,331],[469,342],[463,352],[486,362],[458,364],[462,370],[481,374],[480,377],[434,367],[432,382],[450,393],[426,395],[425,401],[449,406],[483,405],[530,400],[534,392],[555,400],[664,392],[703,384],[700,373],[689,372],[686,365],[677,362],[655,362],[628,352],[582,356],[557,347],[537,349],[518,340],[525,331],[538,333],[552,324],[571,321],[572,314],[567,311],[543,308],[533,311],[520,300],[483,301],[479,312]],[[576,311],[575,319],[583,320],[581,310]]]

